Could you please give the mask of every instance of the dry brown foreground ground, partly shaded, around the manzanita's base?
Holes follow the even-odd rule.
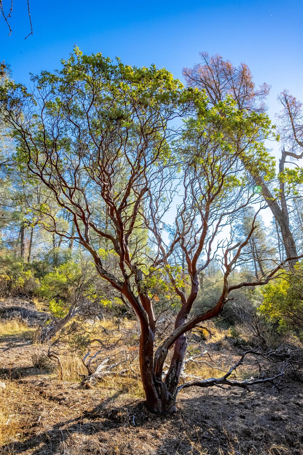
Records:
[[[1,454],[303,455],[302,384],[186,389],[177,414],[159,417],[119,379],[84,390],[34,368],[41,349],[24,333],[0,334]]]

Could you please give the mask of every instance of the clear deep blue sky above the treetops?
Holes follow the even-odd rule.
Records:
[[[14,0],[10,25],[0,18],[0,60],[16,82],[29,72],[52,71],[74,44],[124,63],[165,67],[182,80],[182,68],[199,62],[199,51],[244,61],[257,85],[272,86],[268,114],[280,110],[277,95],[288,89],[303,101],[303,0],[104,1]],[[8,8],[10,0],[3,0]],[[279,145],[273,153],[279,155]]]

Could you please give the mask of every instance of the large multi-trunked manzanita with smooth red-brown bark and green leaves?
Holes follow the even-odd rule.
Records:
[[[78,49],[60,71],[42,72],[32,82],[33,93],[13,83],[1,87],[0,111],[14,132],[16,159],[26,179],[42,182],[70,212],[75,227],[64,230],[41,204],[34,208],[49,217],[45,228],[86,248],[99,275],[134,309],[148,408],[173,412],[179,390],[189,385],[260,382],[231,380],[233,369],[222,378],[182,385],[179,377],[186,332],[218,315],[232,290],[268,283],[281,267],[273,265],[253,283],[228,281],[256,228],[254,219],[246,238],[233,242],[238,212],[258,199],[243,162],[258,168],[264,181],[273,172],[260,141],[270,132],[268,117],[238,109],[228,96],[210,106],[204,92],[184,89],[164,69],[125,66]],[[166,245],[168,216],[174,235]],[[100,244],[111,261],[102,258]],[[213,308],[191,317],[199,274],[217,253],[221,296]],[[159,294],[177,301],[174,331],[165,339],[157,339]]]

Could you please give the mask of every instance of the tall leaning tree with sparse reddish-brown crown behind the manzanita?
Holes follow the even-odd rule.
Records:
[[[253,76],[244,63],[238,67],[233,66],[230,61],[224,61],[219,55],[209,56],[207,52],[201,52],[200,56],[203,63],[197,64],[193,68],[184,68],[183,74],[188,86],[197,87],[205,90],[212,104],[224,99],[226,95],[232,96],[236,101],[239,110],[262,112],[265,110],[264,99],[268,95],[270,87],[263,84],[259,89],[255,88]],[[293,111],[298,111],[298,106]],[[283,172],[284,157],[280,160],[279,172]],[[275,217],[283,245],[288,257],[297,256],[297,248],[293,238],[289,222],[287,206],[287,191],[285,181],[280,179],[278,195],[264,181],[258,168],[251,166],[249,161],[244,162],[251,173],[256,185],[261,188],[263,197],[270,207]]]

